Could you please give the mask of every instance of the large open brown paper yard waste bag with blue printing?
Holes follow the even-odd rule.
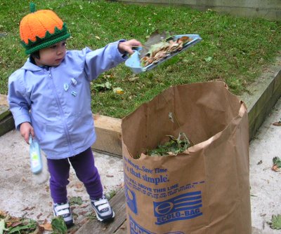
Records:
[[[244,103],[223,82],[171,87],[126,116],[128,233],[251,233],[248,128]],[[179,132],[194,144],[185,152],[144,154]]]

